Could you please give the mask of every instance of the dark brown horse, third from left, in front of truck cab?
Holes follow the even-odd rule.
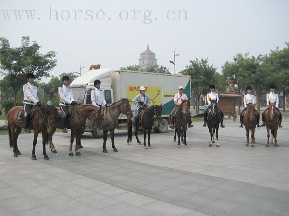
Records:
[[[110,108],[104,109],[104,115],[100,121],[100,124],[103,128],[103,153],[108,152],[106,149],[108,131],[110,131],[111,134],[113,151],[118,152],[117,148],[114,145],[114,130],[117,126],[118,117],[121,113],[124,113],[127,116],[127,119],[132,118],[132,109],[130,108],[129,100],[127,98],[122,98],[119,101],[112,103],[110,105]]]

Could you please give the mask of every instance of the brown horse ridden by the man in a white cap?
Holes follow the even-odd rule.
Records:
[[[188,124],[188,116],[190,110],[190,100],[182,100],[182,103],[180,106],[178,106],[177,111],[175,113],[175,136],[174,136],[174,142],[176,141],[176,133],[178,136],[178,144],[177,147],[180,147],[180,137],[181,141],[183,142],[185,147],[188,147],[187,145],[187,124]]]

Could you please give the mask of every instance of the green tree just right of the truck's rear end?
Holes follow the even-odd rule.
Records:
[[[196,113],[199,113],[200,97],[206,95],[208,85],[213,83],[216,74],[216,67],[209,65],[208,58],[190,60],[180,74],[191,76],[191,91],[196,97]]]

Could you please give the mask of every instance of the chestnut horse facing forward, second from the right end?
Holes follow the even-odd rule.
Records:
[[[249,133],[251,130],[251,147],[255,147],[255,128],[257,125],[257,116],[256,116],[256,110],[255,110],[255,104],[249,103],[247,104],[247,110],[244,113],[244,119],[243,119],[243,125],[246,129],[246,145],[249,146]]]

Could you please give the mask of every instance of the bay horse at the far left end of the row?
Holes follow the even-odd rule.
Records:
[[[16,106],[9,110],[7,113],[8,120],[8,131],[9,131],[9,144],[10,148],[13,147],[14,157],[21,155],[18,149],[17,139],[21,133],[21,129],[24,128],[24,122],[18,122],[16,120],[19,111],[22,106]],[[35,106],[32,109],[33,118],[31,120],[30,128],[34,129],[34,139],[33,139],[33,150],[32,159],[36,159],[35,146],[37,144],[37,137],[39,133],[42,133],[42,145],[43,145],[43,155],[44,159],[48,160],[49,157],[46,153],[46,146],[48,144],[48,138],[52,139],[52,135],[56,130],[56,122],[59,120],[60,116],[57,109],[54,106],[42,105],[41,107]],[[15,131],[16,129],[16,131]]]

